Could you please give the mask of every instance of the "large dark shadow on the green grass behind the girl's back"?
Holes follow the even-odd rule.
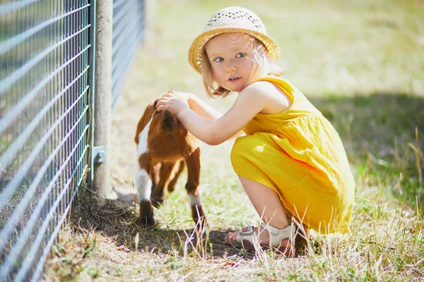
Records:
[[[341,136],[357,179],[375,176],[406,204],[415,206],[416,196],[424,202],[424,95],[329,95],[310,101]],[[395,179],[401,179],[401,191],[394,189]]]

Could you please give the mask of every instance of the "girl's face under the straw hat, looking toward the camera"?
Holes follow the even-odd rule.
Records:
[[[240,33],[216,35],[206,43],[214,80],[232,92],[242,91],[252,73],[252,39]]]

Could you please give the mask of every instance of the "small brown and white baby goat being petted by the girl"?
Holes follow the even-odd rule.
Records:
[[[187,165],[185,189],[192,207],[195,223],[206,223],[199,195],[200,148],[196,138],[169,111],[157,111],[157,100],[146,106],[137,124],[135,141],[138,146],[139,172],[134,183],[140,204],[141,224],[153,226],[153,207],[165,200],[165,187],[169,192],[184,163]]]

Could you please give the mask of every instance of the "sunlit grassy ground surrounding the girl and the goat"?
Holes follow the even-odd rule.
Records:
[[[81,196],[46,264],[45,281],[423,281],[424,2],[232,1],[255,11],[281,44],[281,66],[341,135],[355,176],[352,232],[300,242],[298,256],[228,247],[230,230],[259,223],[229,161],[232,142],[201,145],[209,226],[196,233],[186,176],[136,223],[136,122],[167,90],[206,99],[187,50],[228,1],[155,1],[152,36],[138,50],[112,124],[119,200]],[[232,95],[234,96],[234,95]],[[225,111],[235,97],[209,100]]]

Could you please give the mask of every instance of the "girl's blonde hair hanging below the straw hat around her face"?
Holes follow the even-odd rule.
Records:
[[[249,44],[249,47],[251,48],[252,56],[246,57],[253,62],[253,68],[249,74],[247,85],[252,84],[261,75],[264,74],[280,76],[284,73],[283,69],[281,69],[276,63],[273,63],[271,59],[269,59],[269,54],[264,43],[252,35],[247,35],[241,32],[240,35],[241,36],[238,39],[239,42],[241,42],[242,36],[247,36],[251,39],[251,44]],[[226,97],[228,94],[230,94],[230,90],[227,90],[224,87],[218,85],[218,83],[216,83],[214,80],[212,66],[209,62],[208,54],[206,54],[206,48],[204,48],[201,53],[201,75],[203,77],[204,87],[208,97]]]

